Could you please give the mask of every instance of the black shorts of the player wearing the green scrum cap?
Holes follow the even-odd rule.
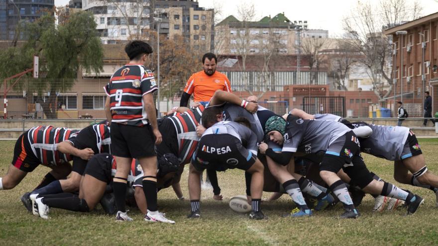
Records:
[[[344,164],[351,164],[352,157],[359,153],[359,140],[352,131],[349,131],[329,145],[320,164],[320,170],[337,173]]]

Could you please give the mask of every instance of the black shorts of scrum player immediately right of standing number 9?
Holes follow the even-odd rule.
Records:
[[[165,118],[158,124],[163,141],[157,146],[157,155],[163,156],[166,153],[172,153],[178,157],[178,136],[172,120]]]

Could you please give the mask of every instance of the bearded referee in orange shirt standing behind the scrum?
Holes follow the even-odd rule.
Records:
[[[190,76],[181,96],[180,107],[187,107],[190,96],[193,94],[194,101],[206,104],[210,101],[216,90],[231,91],[231,86],[226,75],[216,71],[218,58],[213,53],[206,53],[202,57],[204,71]]]

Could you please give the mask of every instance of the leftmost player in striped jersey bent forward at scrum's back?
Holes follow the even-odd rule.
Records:
[[[21,134],[15,143],[12,165],[6,175],[0,177],[0,189],[12,189],[39,164],[48,166],[52,170],[46,174],[37,188],[46,186],[50,182],[65,178],[71,172],[69,162],[73,157],[58,149],[62,141],[74,142],[78,131],[53,126],[37,126]],[[88,160],[93,153],[82,150],[77,153],[82,159]],[[24,202],[25,198],[22,198]],[[30,211],[31,207],[26,206]]]

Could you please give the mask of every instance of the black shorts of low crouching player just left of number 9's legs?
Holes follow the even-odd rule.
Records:
[[[84,175],[91,175],[109,184],[111,182],[112,160],[112,156],[107,153],[94,155],[90,161],[88,161]]]

